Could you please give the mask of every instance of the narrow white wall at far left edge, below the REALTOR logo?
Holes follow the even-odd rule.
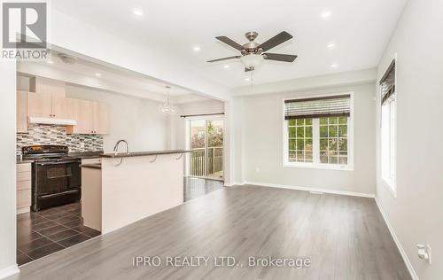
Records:
[[[15,61],[2,61],[0,105],[0,278],[17,272],[16,249],[16,84]]]

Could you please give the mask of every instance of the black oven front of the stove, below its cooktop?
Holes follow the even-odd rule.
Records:
[[[81,160],[35,162],[33,209],[58,206],[81,198]]]

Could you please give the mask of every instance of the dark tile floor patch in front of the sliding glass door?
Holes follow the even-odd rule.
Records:
[[[184,201],[198,198],[211,191],[220,190],[223,187],[222,181],[209,180],[198,177],[184,177]]]

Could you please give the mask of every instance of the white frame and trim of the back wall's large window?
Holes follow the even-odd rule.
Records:
[[[317,98],[317,97],[333,97],[338,95],[350,95],[351,102],[351,115],[348,117],[347,123],[347,165],[328,164],[328,163],[310,163],[310,162],[290,162],[288,160],[288,128],[286,125],[287,120],[284,120],[284,101],[297,100],[305,98]],[[354,171],[354,92],[339,92],[321,95],[302,95],[299,97],[284,97],[282,99],[282,128],[283,128],[283,146],[282,146],[282,163],[283,167],[295,167],[295,168],[308,168],[308,169],[325,169],[325,170],[340,170],[340,171]],[[319,144],[315,143],[314,139],[319,139],[319,126],[314,126],[313,120],[313,157],[319,157],[320,150]],[[315,148],[317,147],[317,149]]]

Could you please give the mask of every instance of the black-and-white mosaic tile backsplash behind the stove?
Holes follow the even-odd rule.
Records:
[[[33,144],[64,144],[69,147],[69,152],[103,151],[103,136],[100,135],[70,135],[66,134],[66,127],[43,124],[28,124],[27,131],[17,134],[18,155],[21,147]],[[84,147],[81,147],[82,143]]]

